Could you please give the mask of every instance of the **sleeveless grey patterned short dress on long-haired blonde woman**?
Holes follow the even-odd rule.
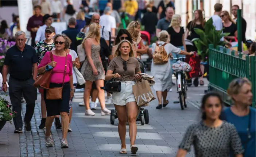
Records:
[[[90,40],[90,39],[89,39]],[[92,43],[91,47],[91,57],[94,63],[94,66],[98,70],[98,75],[93,75],[93,69],[90,63],[88,62],[87,58],[81,67],[81,74],[84,76],[85,80],[95,81],[100,79],[105,79],[104,69],[102,63],[100,61],[100,45],[94,45]]]

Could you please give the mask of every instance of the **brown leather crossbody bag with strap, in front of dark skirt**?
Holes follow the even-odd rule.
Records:
[[[55,87],[55,88],[47,89],[46,90],[46,99],[48,99],[48,100],[62,99],[62,90],[63,90],[64,79],[65,79],[65,75],[66,75],[66,67],[67,67],[67,53],[66,53],[66,59],[65,59],[65,70],[64,70],[64,75],[63,75],[62,87]]]

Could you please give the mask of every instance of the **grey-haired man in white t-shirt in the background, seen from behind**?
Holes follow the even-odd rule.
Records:
[[[106,30],[111,32],[111,36],[116,35],[116,19],[110,15],[111,8],[106,7],[104,10],[104,15],[100,17],[100,25],[104,26]]]

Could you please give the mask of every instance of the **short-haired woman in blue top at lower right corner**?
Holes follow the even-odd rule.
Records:
[[[247,78],[237,78],[229,83],[227,90],[234,105],[226,108],[221,115],[223,120],[236,127],[245,152],[244,157],[255,157],[256,154],[256,112],[252,108],[252,83]],[[231,156],[234,157],[234,152]]]

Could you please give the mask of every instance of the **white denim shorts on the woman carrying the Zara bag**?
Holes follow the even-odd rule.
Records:
[[[136,102],[135,96],[132,91],[132,85],[136,84],[135,81],[121,82],[121,91],[113,92],[112,103],[124,106],[129,102]]]

